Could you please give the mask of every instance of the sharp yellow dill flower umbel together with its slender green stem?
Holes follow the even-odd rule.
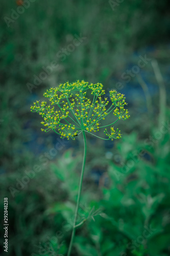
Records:
[[[91,100],[86,96],[87,90],[91,91],[93,99]],[[31,106],[32,112],[37,112],[44,119],[41,124],[44,126],[41,129],[44,132],[53,130],[60,135],[61,138],[71,138],[75,140],[75,137],[82,133],[84,139],[84,157],[81,171],[81,178],[78,191],[77,206],[75,212],[74,226],[72,229],[71,240],[68,248],[67,256],[70,255],[72,243],[75,236],[77,224],[77,215],[79,209],[80,195],[83,182],[83,174],[86,161],[86,133],[97,136],[95,133],[100,129],[104,129],[110,126],[110,132],[105,128],[104,133],[107,138],[101,138],[104,140],[113,140],[121,138],[120,131],[114,129],[112,126],[119,119],[126,120],[129,118],[128,111],[125,109],[125,97],[123,94],[117,93],[115,90],[110,91],[110,101],[103,97],[105,90],[101,83],[88,83],[82,80],[77,80],[74,83],[66,82],[60,84],[56,88],[51,88],[44,93],[44,96],[51,102],[47,105],[47,102],[39,101],[34,102]],[[112,120],[111,114],[115,118],[110,124],[101,126],[100,122],[109,118]]]

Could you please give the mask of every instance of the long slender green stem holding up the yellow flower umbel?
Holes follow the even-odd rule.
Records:
[[[83,139],[84,139],[84,156],[83,156],[82,172],[81,172],[80,183],[79,183],[79,191],[78,191],[78,199],[77,199],[77,205],[76,205],[75,219],[74,219],[74,224],[73,224],[73,228],[72,228],[71,240],[70,240],[67,256],[70,256],[72,243],[73,243],[74,237],[75,237],[76,221],[77,221],[77,215],[78,215],[78,209],[79,209],[79,203],[80,203],[80,196],[81,196],[81,190],[82,190],[84,167],[85,167],[85,162],[86,162],[87,143],[86,143],[86,135],[85,135],[84,131],[83,131]]]

